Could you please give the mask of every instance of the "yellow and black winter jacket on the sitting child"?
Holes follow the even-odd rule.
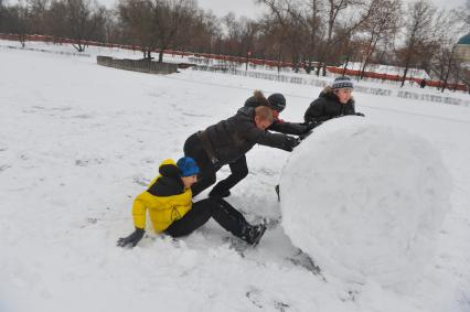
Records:
[[[146,228],[147,209],[157,233],[165,230],[174,220],[182,218],[192,207],[191,189],[184,189],[180,170],[173,160],[164,160],[159,166],[160,175],[149,189],[133,201],[133,225]]]

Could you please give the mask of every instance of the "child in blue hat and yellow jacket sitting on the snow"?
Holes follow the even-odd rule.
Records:
[[[149,189],[133,201],[132,216],[136,230],[119,238],[117,245],[136,246],[143,237],[146,215],[149,211],[153,230],[172,237],[186,236],[213,217],[223,228],[250,245],[258,244],[266,230],[260,224],[253,226],[231,204],[222,198],[205,198],[192,203],[191,185],[197,181],[199,166],[192,158],[177,163],[168,159],[159,166],[160,175]]]

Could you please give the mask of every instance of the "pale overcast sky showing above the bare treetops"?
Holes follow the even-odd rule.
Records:
[[[108,0],[98,0],[108,1]],[[412,0],[404,0],[408,2]],[[440,8],[453,9],[464,4],[466,0],[434,0]],[[204,10],[212,10],[217,17],[224,17],[228,12],[234,12],[237,17],[245,15],[250,19],[256,19],[266,11],[261,4],[255,4],[255,0],[197,0],[199,7]]]

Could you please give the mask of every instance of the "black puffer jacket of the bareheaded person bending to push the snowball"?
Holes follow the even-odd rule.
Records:
[[[210,126],[204,133],[212,149],[207,153],[213,153],[218,165],[238,160],[256,143],[291,151],[296,142],[293,137],[257,128],[252,107],[242,107],[235,116]]]

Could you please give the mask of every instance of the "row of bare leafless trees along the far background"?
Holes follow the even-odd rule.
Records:
[[[217,19],[194,0],[120,0],[106,9],[92,0],[0,0],[0,32],[49,34],[131,44],[146,58],[156,50],[183,50],[291,62],[316,74],[325,65],[360,62],[418,67],[442,80],[464,68],[455,43],[470,32],[470,0],[459,10],[438,10],[430,0],[254,0],[258,20]],[[159,55],[162,61],[162,54]],[[464,78],[464,77],[463,77]]]

